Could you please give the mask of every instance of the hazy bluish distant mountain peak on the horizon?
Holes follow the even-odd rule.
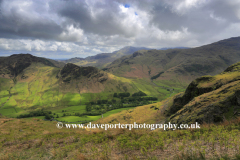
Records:
[[[63,62],[74,63],[78,66],[94,66],[98,68],[103,68],[122,56],[129,55],[135,51],[143,50],[143,49],[148,50],[149,48],[127,46],[118,51],[114,51],[112,53],[100,53],[95,56],[89,56],[87,58],[75,57],[75,58],[65,60]]]

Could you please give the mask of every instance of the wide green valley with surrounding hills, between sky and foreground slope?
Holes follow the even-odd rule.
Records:
[[[230,38],[192,49],[138,50],[133,54],[130,52],[139,48],[126,47],[121,52],[130,55],[115,60],[103,70],[63,64],[30,54],[4,57],[0,59],[3,62],[0,69],[0,113],[8,117],[45,119],[45,113],[33,116],[34,112],[44,110],[51,112],[48,119],[89,122],[111,113],[156,103],[184,92],[195,77],[213,75],[237,61],[240,54],[238,40],[238,37]],[[224,49],[217,52],[220,45]],[[218,55],[209,59],[202,54],[200,58],[199,53],[205,50]],[[234,59],[226,56],[233,51]],[[118,55],[120,51],[114,54]],[[219,65],[201,67],[206,58],[211,61],[208,65]],[[195,60],[200,66],[195,65]],[[192,64],[197,68],[194,69]],[[134,99],[137,92],[146,97]],[[128,94],[127,97],[114,96],[124,93]]]

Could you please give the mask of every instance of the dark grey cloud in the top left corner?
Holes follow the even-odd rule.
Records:
[[[34,16],[32,11],[37,8],[37,5],[39,5],[38,8],[41,8],[41,5],[43,4],[33,4],[33,10],[30,10],[29,12],[28,10],[25,10],[25,13],[22,13],[21,10],[24,8],[18,7],[17,5],[11,6],[7,3],[10,3],[10,1],[3,1],[1,3],[1,38],[56,39],[56,37],[62,32],[63,29],[53,20],[42,18],[40,16],[41,12],[38,13],[39,16],[35,19],[31,18],[32,14]],[[38,9],[38,11],[41,10]],[[44,10],[42,11],[44,12]]]

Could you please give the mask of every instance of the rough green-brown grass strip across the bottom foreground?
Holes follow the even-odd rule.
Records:
[[[0,122],[1,159],[237,160],[240,153],[240,119],[175,131],[58,129],[36,118]]]

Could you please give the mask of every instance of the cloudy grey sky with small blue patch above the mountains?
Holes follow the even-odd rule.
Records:
[[[63,59],[240,36],[240,0],[0,0],[0,56]]]

